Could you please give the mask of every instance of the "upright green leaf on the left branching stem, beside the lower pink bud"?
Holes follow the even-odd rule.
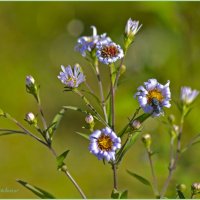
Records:
[[[50,127],[47,129],[47,131],[49,132],[49,135],[50,135],[50,138],[52,140],[53,138],[53,134],[54,132],[56,131],[56,129],[58,128],[59,124],[60,124],[60,121],[62,119],[62,117],[64,116],[64,113],[65,113],[65,109],[61,109],[59,111],[59,113],[53,118],[53,121],[50,125]]]

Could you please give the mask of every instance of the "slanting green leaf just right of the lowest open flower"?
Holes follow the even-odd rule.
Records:
[[[134,134],[131,134],[127,139],[127,142],[122,146],[122,148],[117,153],[117,163],[119,163],[126,152],[133,146],[133,144],[137,141],[138,137],[140,136],[141,132],[137,131]]]

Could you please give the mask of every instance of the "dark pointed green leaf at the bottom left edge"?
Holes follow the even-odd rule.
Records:
[[[37,195],[41,199],[56,199],[52,194],[50,194],[49,192],[46,192],[45,190],[39,187],[33,186],[22,180],[17,180],[17,182],[20,183],[25,188],[27,188],[28,190],[30,190],[31,192],[33,192],[35,195]]]

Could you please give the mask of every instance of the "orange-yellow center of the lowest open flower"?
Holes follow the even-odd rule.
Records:
[[[112,149],[113,141],[111,140],[110,136],[102,134],[98,138],[97,144],[99,149],[101,149],[102,151],[109,151]]]

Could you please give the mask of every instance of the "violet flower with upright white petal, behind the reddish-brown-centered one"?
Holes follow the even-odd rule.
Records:
[[[75,50],[80,52],[83,57],[86,57],[87,52],[91,52],[95,49],[97,42],[111,41],[111,39],[107,37],[106,33],[97,35],[96,27],[91,26],[91,28],[93,29],[93,35],[80,37],[75,46]]]

